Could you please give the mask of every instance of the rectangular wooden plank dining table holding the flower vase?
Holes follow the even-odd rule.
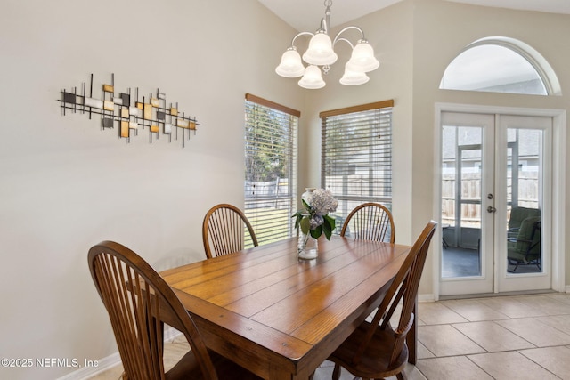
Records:
[[[409,251],[333,236],[305,261],[290,238],[160,275],[209,349],[265,379],[308,379],[379,306]]]

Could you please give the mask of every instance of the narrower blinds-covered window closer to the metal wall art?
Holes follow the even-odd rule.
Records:
[[[250,93],[245,102],[245,214],[259,245],[292,236],[300,112]]]

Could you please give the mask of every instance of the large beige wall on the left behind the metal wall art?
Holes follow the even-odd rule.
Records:
[[[256,0],[3,3],[0,357],[116,352],[86,260],[102,239],[159,269],[205,257],[208,208],[243,204],[244,94],[304,111],[301,89],[273,71],[293,34]],[[98,117],[61,116],[60,91],[90,73],[97,89],[111,73],[118,91],[159,87],[198,117],[198,133],[185,148],[144,131],[127,144]],[[0,368],[0,378],[75,369]]]

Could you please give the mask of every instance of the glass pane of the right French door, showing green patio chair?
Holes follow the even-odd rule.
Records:
[[[507,271],[542,272],[542,130],[509,128]]]

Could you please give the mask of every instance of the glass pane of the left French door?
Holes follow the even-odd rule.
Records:
[[[442,137],[442,277],[481,276],[483,128],[444,125]]]

